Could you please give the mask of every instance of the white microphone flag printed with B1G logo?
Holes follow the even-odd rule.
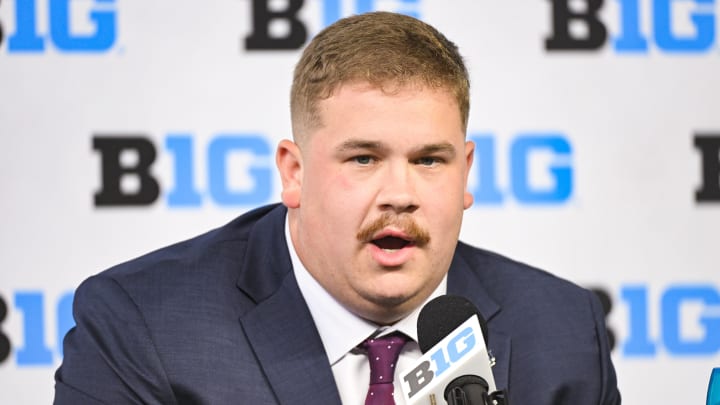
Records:
[[[400,375],[408,404],[434,403],[432,398],[444,398],[445,387],[453,379],[450,375],[481,375],[487,380],[490,391],[495,391],[485,339],[477,317],[472,316],[458,326],[428,350],[415,367]]]

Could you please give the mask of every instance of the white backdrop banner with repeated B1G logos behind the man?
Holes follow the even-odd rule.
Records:
[[[279,200],[292,69],[336,19],[455,41],[462,238],[594,289],[625,403],[720,366],[720,2],[0,1],[0,402],[49,403],[74,288]]]

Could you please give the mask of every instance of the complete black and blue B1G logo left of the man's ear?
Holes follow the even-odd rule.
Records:
[[[271,198],[273,149],[262,135],[211,137],[203,156],[207,192],[197,184],[200,168],[192,134],[168,134],[164,146],[173,160],[173,186],[166,196],[170,207],[199,207],[205,199],[221,206],[252,206]],[[151,170],[158,148],[150,138],[101,135],[93,137],[92,147],[101,159],[96,207],[147,206],[158,200],[161,182]]]

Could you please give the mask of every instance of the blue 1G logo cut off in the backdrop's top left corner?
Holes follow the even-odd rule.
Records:
[[[40,7],[43,0],[16,0],[15,30],[7,38],[9,53],[40,53],[53,45],[61,52],[96,53],[112,48],[116,38],[115,0],[44,0],[47,1],[45,26],[42,33],[39,26]],[[42,8],[45,9],[44,7]],[[78,11],[85,11],[86,21],[76,21]],[[90,26],[89,32],[80,32],[80,26]],[[0,27],[0,43],[3,41]]]

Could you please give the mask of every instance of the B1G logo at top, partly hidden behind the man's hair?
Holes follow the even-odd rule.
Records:
[[[377,3],[394,3],[387,11],[407,14],[420,18],[420,0],[321,0],[320,27],[322,29],[339,20],[342,16],[362,14],[379,9]],[[308,39],[308,25],[300,19],[304,0],[287,0],[285,7],[276,7],[278,2],[271,0],[252,1],[252,32],[245,38],[247,50],[300,49]],[[349,6],[349,7],[343,7]],[[318,31],[319,31],[318,29]]]

